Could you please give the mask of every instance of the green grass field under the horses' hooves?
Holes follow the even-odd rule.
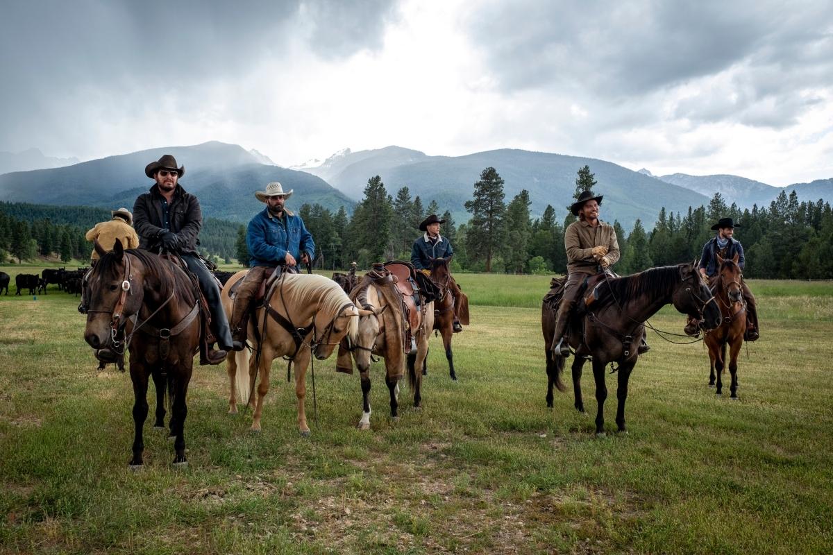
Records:
[[[0,270],[13,284],[18,267]],[[460,379],[431,339],[421,411],[387,417],[378,363],[372,431],[358,431],[358,377],[330,359],[302,439],[278,362],[254,435],[249,417],[226,414],[224,365],[197,367],[190,466],[172,468],[167,434],[147,423],[137,473],[129,376],[96,371],[77,299],[13,297],[12,285],[0,297],[0,553],[831,553],[833,284],[751,282],[763,337],[741,356],[739,402],[706,387],[702,344],[649,336],[630,434],[597,439],[591,374],[588,414],[571,393],[546,409],[549,277],[457,277],[473,323],[454,339]],[[666,308],[652,323],[684,321]]]

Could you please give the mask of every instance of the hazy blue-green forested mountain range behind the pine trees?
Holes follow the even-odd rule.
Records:
[[[253,192],[269,181],[281,181],[295,190],[289,206],[319,203],[332,211],[352,211],[361,200],[367,180],[382,176],[387,191],[408,186],[423,206],[436,201],[440,211],[451,211],[455,221],[471,216],[464,203],[474,183],[488,166],[501,175],[506,202],[521,189],[529,191],[531,213],[539,216],[547,204],[566,215],[575,192],[576,171],[590,166],[605,196],[602,218],[618,220],[630,229],[637,218],[651,227],[662,207],[686,212],[689,206],[707,205],[716,192],[741,208],[766,206],[785,189],[739,176],[653,176],[645,168],[631,171],[609,161],[546,152],[500,149],[466,156],[428,156],[424,152],[387,146],[367,151],[338,151],[325,161],[302,166],[276,166],[267,156],[242,146],[210,141],[194,146],[170,146],[108,156],[72,166],[17,171],[0,175],[0,200],[62,206],[131,207],[136,196],[152,185],[144,175],[148,162],[172,154],[184,164],[182,186],[200,198],[207,216],[245,222],[262,204]],[[833,200],[833,180],[786,187],[801,201]]]

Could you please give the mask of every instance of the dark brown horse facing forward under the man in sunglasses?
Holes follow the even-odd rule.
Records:
[[[167,384],[172,398],[173,463],[187,464],[185,397],[200,340],[199,306],[192,281],[177,265],[145,250],[124,250],[119,240],[110,252],[104,252],[97,242],[95,249],[101,258],[87,277],[85,297],[90,302],[84,339],[93,349],[109,348],[117,354],[129,350],[136,425],[130,465],[139,468],[143,462],[148,377],[157,389],[154,427],[164,427]]]

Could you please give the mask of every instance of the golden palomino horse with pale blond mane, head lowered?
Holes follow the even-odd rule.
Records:
[[[234,306],[229,291],[247,271],[241,270],[232,275],[222,289],[222,306],[229,316]],[[327,280],[322,275],[286,272],[278,278],[277,285],[272,289],[272,296],[265,305],[266,308],[259,306],[249,319],[248,341],[252,344],[254,352],[257,353],[260,349],[260,353],[250,360],[249,351],[243,349],[227,359],[231,385],[228,412],[237,413],[236,390],[242,402],[252,404],[251,392],[259,373],[257,404],[252,414],[252,431],[259,432],[263,398],[269,391],[272,360],[286,356],[295,363],[298,429],[302,435],[307,436],[310,429],[307,426],[304,399],[307,396],[307,364],[310,363],[311,355],[315,355],[318,360],[327,359],[347,334],[355,341],[358,316],[364,311],[357,310],[335,281]],[[254,320],[257,320],[257,331],[254,329]],[[259,368],[256,367],[258,363]],[[249,371],[238,372],[238,369],[242,368],[248,368]]]

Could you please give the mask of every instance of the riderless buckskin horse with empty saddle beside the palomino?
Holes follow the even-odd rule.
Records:
[[[358,429],[370,429],[370,365],[374,354],[385,359],[385,384],[391,394],[391,418],[399,418],[399,379],[402,378],[405,361],[403,354],[406,347],[403,340],[406,322],[402,300],[398,295],[392,282],[379,283],[369,276],[351,294],[357,305],[367,310],[368,314],[359,318],[357,340],[349,344],[347,349],[339,349],[338,369],[352,374],[352,368],[346,368],[350,364],[348,352],[352,353],[362,379],[362,419],[359,420]],[[422,368],[428,354],[428,337],[434,326],[432,302],[426,304],[422,314],[419,328],[413,332],[416,349],[407,345],[408,384],[413,392],[416,409],[421,408],[422,404],[422,373],[416,369]]]

